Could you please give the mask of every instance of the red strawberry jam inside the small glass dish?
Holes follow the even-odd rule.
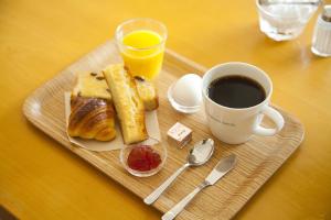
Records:
[[[128,166],[138,172],[149,172],[160,164],[160,154],[149,145],[135,146],[128,156]]]

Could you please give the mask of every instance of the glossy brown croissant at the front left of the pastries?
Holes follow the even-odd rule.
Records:
[[[72,96],[68,135],[110,141],[116,136],[111,100]]]

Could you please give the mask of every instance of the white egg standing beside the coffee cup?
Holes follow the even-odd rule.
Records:
[[[200,106],[202,102],[202,78],[196,74],[182,76],[172,88],[172,98],[184,107]]]

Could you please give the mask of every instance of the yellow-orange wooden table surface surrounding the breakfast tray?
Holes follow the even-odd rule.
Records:
[[[276,43],[259,32],[253,0],[1,0],[0,206],[21,219],[160,218],[22,114],[30,92],[137,16],[164,22],[168,47],[196,63],[265,69],[273,101],[305,124],[300,148],[236,219],[331,219],[331,58],[310,52],[316,16],[299,38]]]

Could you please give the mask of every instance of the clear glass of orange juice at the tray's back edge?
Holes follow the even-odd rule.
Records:
[[[132,19],[116,29],[116,42],[132,76],[154,79],[162,67],[167,28],[152,19]]]

